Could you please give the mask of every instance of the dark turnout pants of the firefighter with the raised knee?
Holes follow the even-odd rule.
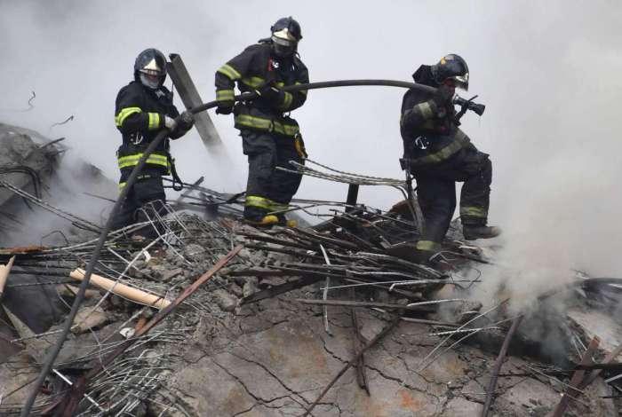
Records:
[[[447,161],[413,170],[418,199],[425,219],[417,247],[438,250],[456,209],[456,182],[464,182],[460,193],[462,224],[485,225],[490,204],[492,164],[487,153],[468,144]]]

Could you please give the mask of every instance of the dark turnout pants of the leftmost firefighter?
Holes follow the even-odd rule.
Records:
[[[122,175],[121,183],[124,183],[126,179]],[[143,169],[138,180],[127,194],[113,228],[120,229],[130,224],[147,221],[148,216],[151,216],[154,211],[163,212],[165,201],[166,194],[164,193],[162,174],[156,169]],[[155,237],[156,231],[148,226],[140,234],[145,237]]]

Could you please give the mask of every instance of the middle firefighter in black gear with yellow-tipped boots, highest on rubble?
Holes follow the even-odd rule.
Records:
[[[250,224],[295,225],[282,213],[298,191],[301,177],[276,167],[292,169],[289,161],[304,163],[307,157],[299,125],[289,112],[302,106],[307,91],[287,92],[283,86],[308,83],[307,67],[299,59],[302,39],[296,20],[283,18],[270,28],[270,38],[252,44],[227,61],[216,73],[218,114],[235,115],[235,128],[243,139],[248,156],[244,218]],[[259,98],[234,106],[235,83],[241,91],[256,91]]]

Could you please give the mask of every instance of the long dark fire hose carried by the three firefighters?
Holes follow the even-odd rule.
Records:
[[[325,81],[325,82],[320,82],[320,83],[291,85],[291,86],[283,87],[282,90],[283,91],[317,90],[317,89],[326,89],[326,88],[334,88],[334,87],[354,87],[354,86],[401,87],[405,89],[417,89],[417,90],[426,91],[426,92],[434,92],[436,90],[434,87],[428,87],[427,85],[422,85],[418,83],[407,83],[407,82],[395,81],[395,80]],[[244,92],[243,94],[235,96],[235,101],[249,100],[252,98],[257,98],[258,96],[259,94],[255,92]],[[193,107],[189,111],[192,112],[192,114],[197,114],[205,110],[208,110],[210,108],[214,108],[218,106],[218,104],[219,102],[214,100],[214,101],[210,101],[209,103],[204,103],[201,106]],[[179,117],[176,122],[179,122]],[[169,133],[170,133],[170,130],[167,130],[167,129],[161,130],[156,135],[156,138],[154,138],[151,141],[147,149],[142,153],[139,163],[132,170],[132,174],[127,179],[126,185],[124,186],[123,190],[119,194],[119,197],[116,199],[115,205],[113,206],[112,210],[110,211],[110,215],[108,216],[108,221],[106,222],[106,225],[104,226],[104,228],[101,230],[100,238],[97,241],[95,248],[93,249],[91,259],[89,259],[89,263],[86,265],[86,270],[84,272],[84,279],[82,283],[80,284],[80,288],[78,290],[78,293],[76,294],[76,299],[74,300],[74,303],[71,306],[71,311],[69,311],[69,315],[67,319],[65,320],[65,323],[63,324],[62,332],[59,335],[59,338],[57,339],[56,344],[53,346],[53,349],[50,350],[47,358],[45,358],[45,362],[41,367],[41,372],[39,373],[39,376],[37,377],[32,390],[28,394],[26,404],[24,404],[24,407],[21,409],[21,413],[20,413],[21,417],[27,417],[29,415],[30,409],[35,403],[36,396],[39,393],[39,390],[41,389],[41,386],[43,385],[47,374],[50,373],[50,370],[52,369],[52,365],[54,364],[54,361],[59,355],[63,342],[65,342],[65,339],[67,338],[67,335],[71,329],[71,324],[76,318],[76,313],[78,311],[78,308],[80,307],[80,304],[82,303],[84,299],[84,293],[86,291],[86,287],[88,287],[89,285],[89,281],[92,276],[92,271],[100,257],[101,249],[106,243],[106,239],[108,238],[108,232],[110,232],[110,229],[112,228],[112,224],[114,223],[115,217],[118,214],[119,209],[121,209],[121,205],[123,204],[125,197],[127,196],[127,193],[129,193],[129,191],[132,189],[132,185],[136,182],[136,178],[140,175],[140,171],[145,166],[145,161],[147,161],[148,156],[154,152],[156,147],[160,145],[160,143],[163,141],[164,138],[168,136]],[[69,389],[68,395],[71,394],[73,389],[74,387]]]

